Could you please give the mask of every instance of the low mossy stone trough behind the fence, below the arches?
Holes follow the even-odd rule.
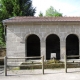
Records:
[[[30,65],[30,64],[36,64],[36,63],[22,63],[21,65]],[[67,63],[68,68],[78,68],[80,65],[79,63]],[[21,66],[20,69],[41,69],[42,65],[39,62],[39,65],[34,66]],[[61,62],[59,60],[48,60],[44,62],[44,69],[55,69],[55,68],[64,68],[64,62]]]

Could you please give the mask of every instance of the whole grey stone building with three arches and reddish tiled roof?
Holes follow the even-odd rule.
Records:
[[[80,17],[13,17],[3,24],[8,57],[80,55]]]

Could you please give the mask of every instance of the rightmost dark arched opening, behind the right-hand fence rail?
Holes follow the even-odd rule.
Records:
[[[79,39],[74,34],[70,34],[66,38],[66,55],[79,55]],[[78,59],[78,57],[68,59]]]

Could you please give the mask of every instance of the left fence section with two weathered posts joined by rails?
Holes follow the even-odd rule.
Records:
[[[6,57],[5,56],[4,57],[4,75],[7,76],[7,67],[20,67],[20,65],[19,66],[7,65],[7,59],[36,59],[36,58],[41,58],[42,59],[42,74],[44,74],[44,56],[40,56],[40,57]],[[30,66],[32,66],[32,65],[30,65]],[[25,65],[25,66],[28,66],[28,65]]]

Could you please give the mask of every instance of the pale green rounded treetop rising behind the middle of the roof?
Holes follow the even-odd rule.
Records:
[[[45,16],[48,16],[48,17],[51,17],[51,16],[58,17],[58,16],[62,16],[62,13],[59,13],[52,6],[50,6],[50,8],[46,10],[46,15]]]

